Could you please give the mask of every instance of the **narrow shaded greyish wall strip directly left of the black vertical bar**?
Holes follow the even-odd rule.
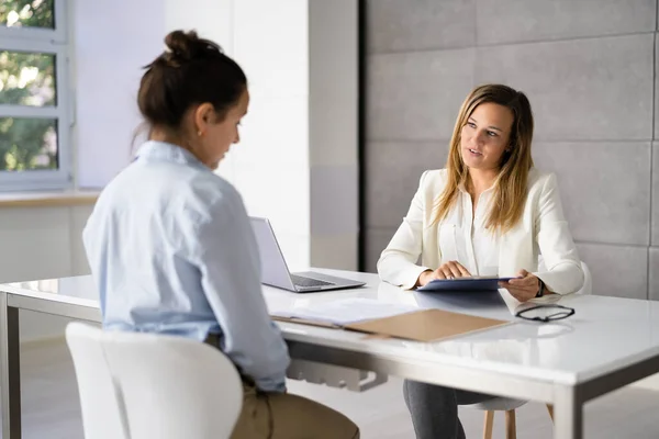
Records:
[[[309,3],[311,263],[356,270],[359,238],[358,9]]]

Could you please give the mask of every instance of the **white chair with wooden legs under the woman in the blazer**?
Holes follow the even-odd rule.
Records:
[[[592,294],[593,280],[591,277],[591,272],[585,262],[581,262],[581,268],[583,269],[583,286],[574,294]],[[515,409],[522,407],[526,403],[527,401],[524,399],[495,397],[482,403],[469,405],[469,407],[485,412],[483,439],[492,439],[492,427],[494,425],[495,412],[505,412],[505,437],[506,439],[516,439],[517,431]],[[547,412],[549,412],[549,417],[554,421],[554,407],[549,404],[547,404]]]

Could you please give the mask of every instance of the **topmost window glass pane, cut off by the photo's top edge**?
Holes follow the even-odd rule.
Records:
[[[54,0],[0,0],[0,25],[55,29]]]

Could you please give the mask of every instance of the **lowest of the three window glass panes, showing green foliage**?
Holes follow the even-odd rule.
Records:
[[[0,117],[0,170],[57,169],[57,120]]]

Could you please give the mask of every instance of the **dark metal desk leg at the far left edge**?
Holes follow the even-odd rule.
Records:
[[[7,305],[0,292],[0,409],[2,439],[21,438],[21,352],[19,309]]]

